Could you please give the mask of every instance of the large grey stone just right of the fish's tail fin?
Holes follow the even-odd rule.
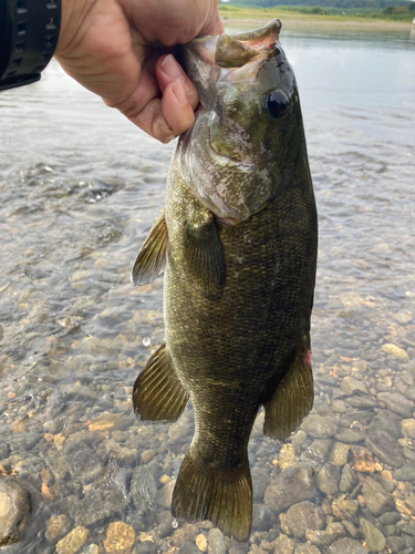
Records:
[[[267,488],[264,503],[277,513],[292,504],[318,496],[314,485],[314,470],[311,465],[298,463],[277,475]]]

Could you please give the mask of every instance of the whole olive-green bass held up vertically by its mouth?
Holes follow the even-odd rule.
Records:
[[[174,422],[190,399],[195,417],[172,513],[239,542],[251,530],[248,442],[259,410],[264,435],[284,441],[313,404],[318,216],[280,30],[276,19],[183,47],[200,104],[132,269],[134,285],[164,273],[165,320],[134,410],[143,422]]]

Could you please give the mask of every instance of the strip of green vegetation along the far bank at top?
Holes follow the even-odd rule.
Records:
[[[315,0],[231,0],[219,6],[219,12],[225,18],[272,18],[295,14],[321,17],[322,20],[392,20],[412,21],[415,17],[415,1],[403,0],[318,0],[320,6],[312,6]],[[281,1],[281,3],[277,3]],[[238,2],[238,4],[237,4]],[[247,3],[245,3],[247,2]],[[250,2],[250,6],[248,6]],[[271,3],[271,6],[262,6]],[[283,2],[283,3],[282,3]],[[295,2],[301,2],[297,4]],[[372,6],[354,7],[353,3],[371,3]],[[338,6],[343,3],[344,6]],[[380,6],[383,3],[384,6]],[[335,6],[334,6],[335,4]],[[351,6],[352,4],[352,6]],[[374,6],[376,4],[376,6]],[[278,13],[277,13],[278,10]]]

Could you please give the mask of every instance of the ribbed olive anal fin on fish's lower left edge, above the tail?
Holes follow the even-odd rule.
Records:
[[[181,416],[188,399],[163,342],[134,383],[134,411],[142,421],[173,422]]]

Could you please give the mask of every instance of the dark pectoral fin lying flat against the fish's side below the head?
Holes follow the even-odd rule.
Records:
[[[221,297],[226,279],[224,247],[214,215],[187,222],[184,233],[186,270],[209,300]]]

